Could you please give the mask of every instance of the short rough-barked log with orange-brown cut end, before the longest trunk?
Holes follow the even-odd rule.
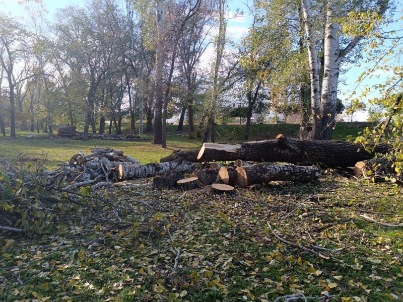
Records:
[[[315,180],[321,175],[320,170],[316,167],[270,165],[266,163],[238,167],[235,170],[235,184],[240,187],[274,180],[306,182]]]

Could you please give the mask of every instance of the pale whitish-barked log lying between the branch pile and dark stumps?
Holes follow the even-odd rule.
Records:
[[[176,169],[182,173],[192,173],[194,164],[189,162],[175,161],[161,164],[147,165],[119,165],[117,177],[121,179],[153,177],[156,175],[164,175],[168,170]]]

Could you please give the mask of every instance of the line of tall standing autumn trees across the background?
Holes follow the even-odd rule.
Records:
[[[11,137],[17,125],[52,133],[54,125],[79,124],[88,140],[90,130],[121,133],[128,119],[132,133],[153,130],[153,143],[166,147],[176,112],[178,130],[187,117],[189,138],[214,142],[217,119],[237,99],[246,107],[245,139],[253,112],[267,107],[299,111],[301,138],[331,139],[340,74],[392,4],[255,0],[244,13],[228,4],[92,0],[50,18],[41,2],[25,0],[23,21],[0,13],[1,131],[5,123]],[[243,14],[252,18],[248,34],[232,41],[228,22]]]

